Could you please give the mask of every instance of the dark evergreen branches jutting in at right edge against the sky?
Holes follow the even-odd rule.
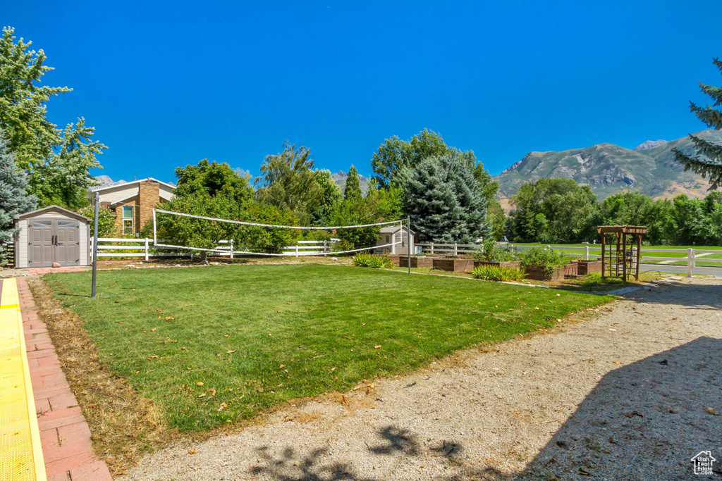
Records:
[[[713,63],[722,73],[722,61],[719,58],[714,58]],[[715,102],[713,105],[708,104],[705,107],[690,102],[690,110],[708,127],[715,130],[722,129],[722,112],[714,108],[722,105],[722,88],[700,82],[700,89]],[[722,184],[722,145],[713,144],[692,134],[690,134],[690,139],[697,147],[697,155],[694,157],[688,156],[672,148],[677,162],[684,165],[684,170],[692,170],[692,172],[700,174],[704,178],[709,178],[711,189],[718,188]]]

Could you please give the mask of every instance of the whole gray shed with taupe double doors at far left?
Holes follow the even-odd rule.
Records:
[[[90,219],[59,206],[15,218],[15,267],[90,264]]]

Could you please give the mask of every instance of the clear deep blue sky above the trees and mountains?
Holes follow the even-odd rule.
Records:
[[[258,172],[283,141],[337,172],[423,128],[492,174],[529,151],[700,131],[722,2],[15,1],[59,125],[84,116],[113,179],[208,158]]]

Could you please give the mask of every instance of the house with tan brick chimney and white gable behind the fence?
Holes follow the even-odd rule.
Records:
[[[138,237],[147,221],[153,219],[153,208],[173,199],[175,185],[152,177],[122,184],[95,187],[85,196],[92,204],[100,194],[100,206],[110,208],[116,216],[118,233]]]

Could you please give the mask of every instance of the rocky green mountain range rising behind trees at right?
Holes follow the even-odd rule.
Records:
[[[721,131],[710,129],[695,136],[722,144]],[[586,149],[529,152],[492,178],[499,182],[497,198],[505,208],[524,182],[541,178],[561,177],[588,184],[599,200],[623,190],[639,190],[652,198],[673,198],[681,193],[690,197],[706,195],[709,182],[694,172],[684,172],[684,167],[674,160],[672,147],[695,154],[695,146],[687,136],[674,141],[646,141],[632,150],[597,144]]]

